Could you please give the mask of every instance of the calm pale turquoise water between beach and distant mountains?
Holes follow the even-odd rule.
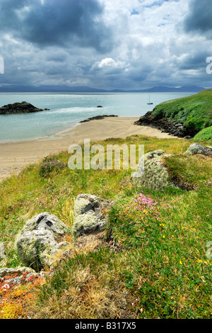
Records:
[[[0,142],[33,140],[51,136],[73,128],[80,120],[94,115],[114,114],[123,117],[140,117],[154,106],[173,98],[194,93],[149,94],[53,94],[53,93],[0,93],[0,107],[8,103],[27,101],[37,108],[50,111],[0,115]],[[98,105],[103,106],[97,108]]]

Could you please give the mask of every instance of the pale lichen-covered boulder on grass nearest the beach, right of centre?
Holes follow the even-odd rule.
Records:
[[[165,154],[162,149],[144,154],[139,160],[138,169],[131,175],[134,186],[153,190],[173,186],[167,169],[162,163],[165,156],[169,156],[169,154]]]

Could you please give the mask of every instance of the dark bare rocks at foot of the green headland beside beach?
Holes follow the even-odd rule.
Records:
[[[148,111],[145,115],[139,118],[134,125],[157,128],[158,130],[161,130],[161,132],[167,132],[175,137],[185,137],[186,139],[192,138],[182,124],[167,118],[158,119],[153,115],[153,111]]]

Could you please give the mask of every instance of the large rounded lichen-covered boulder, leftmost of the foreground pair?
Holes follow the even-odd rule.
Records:
[[[25,266],[35,271],[51,268],[54,257],[68,245],[61,242],[66,225],[50,213],[40,213],[29,220],[16,237],[15,249]]]

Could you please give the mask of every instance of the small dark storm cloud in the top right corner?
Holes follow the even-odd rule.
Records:
[[[212,38],[212,4],[211,0],[191,0],[189,14],[184,21],[186,32],[199,32]]]

